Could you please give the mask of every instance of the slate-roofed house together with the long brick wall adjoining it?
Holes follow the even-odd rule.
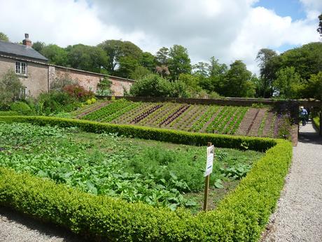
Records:
[[[22,44],[0,40],[0,77],[8,72],[8,69],[13,69],[24,86],[25,95],[36,98],[40,93],[50,90],[52,81],[66,75],[94,93],[99,81],[107,77],[112,82],[111,90],[116,96],[123,96],[124,90],[130,90],[134,83],[131,79],[51,65],[47,58],[31,46],[28,34],[25,34]]]

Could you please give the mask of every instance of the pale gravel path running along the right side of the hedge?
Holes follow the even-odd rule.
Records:
[[[322,241],[322,137],[300,126],[293,163],[262,241]]]

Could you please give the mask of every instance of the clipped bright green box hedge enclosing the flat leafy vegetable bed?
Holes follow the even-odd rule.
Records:
[[[78,126],[90,132],[112,132],[153,140],[267,150],[237,188],[216,210],[191,215],[143,203],[94,196],[64,184],[0,168],[0,204],[41,220],[55,222],[97,241],[258,241],[276,206],[292,157],[286,140],[187,133],[137,126],[48,117],[7,116],[0,121]]]

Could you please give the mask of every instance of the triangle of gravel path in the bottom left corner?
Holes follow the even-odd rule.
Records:
[[[0,208],[1,242],[85,242],[66,229]],[[88,241],[88,240],[86,240]]]

